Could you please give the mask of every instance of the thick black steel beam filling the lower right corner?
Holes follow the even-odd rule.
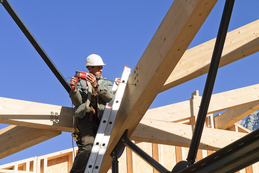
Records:
[[[259,161],[259,129],[178,173],[234,173]]]

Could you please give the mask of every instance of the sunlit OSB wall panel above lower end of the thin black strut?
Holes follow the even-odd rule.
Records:
[[[171,171],[176,164],[175,146],[163,145],[164,167]]]

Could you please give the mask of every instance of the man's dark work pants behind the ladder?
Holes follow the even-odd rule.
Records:
[[[81,140],[76,142],[78,152],[70,173],[83,173],[93,147],[100,120],[93,116],[92,121],[89,122],[89,114],[86,114],[83,118],[75,118],[75,121]]]

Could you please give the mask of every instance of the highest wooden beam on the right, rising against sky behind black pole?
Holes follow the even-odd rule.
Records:
[[[259,20],[227,33],[219,67],[259,51]],[[216,38],[188,49],[160,92],[208,73]]]

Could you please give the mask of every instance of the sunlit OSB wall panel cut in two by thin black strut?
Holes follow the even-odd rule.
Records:
[[[152,157],[152,143],[141,142],[136,145]],[[136,173],[142,173],[143,171],[153,172],[153,168],[136,154],[135,154],[135,165],[136,165]]]

